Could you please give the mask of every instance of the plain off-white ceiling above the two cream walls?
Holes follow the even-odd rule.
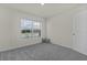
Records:
[[[41,6],[40,3],[19,3],[19,4],[6,4],[9,8],[18,9],[23,12],[32,13],[39,17],[48,18],[61,12],[69,11],[76,9],[78,4],[64,4],[64,3],[45,3]]]

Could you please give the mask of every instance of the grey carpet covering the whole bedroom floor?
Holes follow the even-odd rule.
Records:
[[[87,56],[55,44],[34,44],[0,52],[0,61],[87,61]]]

